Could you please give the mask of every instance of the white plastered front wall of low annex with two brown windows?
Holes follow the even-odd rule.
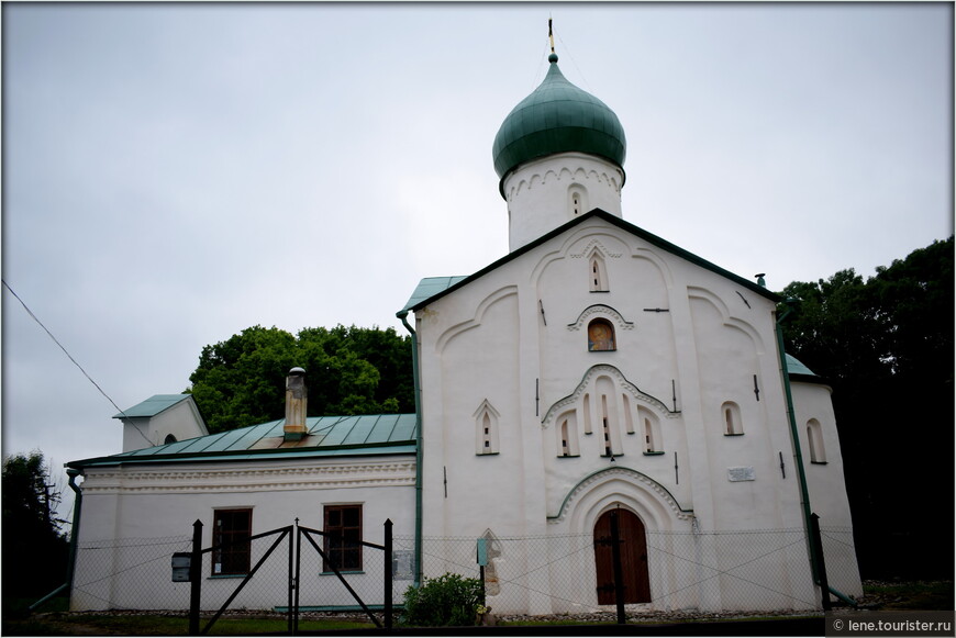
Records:
[[[88,468],[81,489],[74,611],[188,608],[190,585],[171,582],[170,557],[190,550],[196,521],[203,524],[203,548],[212,545],[215,510],[252,508],[255,535],[292,525],[296,518],[302,526],[322,529],[324,505],[360,504],[364,540],[381,544],[387,518],[393,523],[393,535],[405,539],[397,548],[411,547],[414,535],[414,457],[409,455]],[[270,544],[254,541],[253,562]],[[284,541],[269,557],[232,608],[287,604],[287,547]],[[303,547],[304,556],[305,540]],[[381,557],[365,551],[366,573],[349,575],[349,584],[367,602],[380,603]],[[216,609],[241,579],[212,578],[205,557],[202,608]],[[318,568],[303,571],[301,604],[315,604],[310,602],[314,598],[326,605],[355,605],[334,580]],[[402,582],[396,584],[401,589]]]

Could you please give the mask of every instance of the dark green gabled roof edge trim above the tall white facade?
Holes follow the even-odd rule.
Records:
[[[770,301],[772,301],[775,303],[779,303],[783,299],[779,294],[777,294],[775,292],[770,292],[769,290],[767,290],[763,286],[758,286],[754,281],[751,281],[748,279],[744,279],[740,275],[734,275],[730,270],[725,270],[725,269],[721,268],[720,266],[718,266],[716,264],[708,261],[707,259],[704,259],[702,257],[698,257],[693,253],[685,250],[680,246],[671,244],[670,242],[663,239],[662,237],[658,237],[657,235],[654,235],[653,233],[648,233],[647,231],[645,231],[644,228],[641,228],[640,226],[635,226],[634,224],[632,224],[630,222],[625,222],[621,217],[614,216],[611,213],[608,213],[607,211],[602,211],[601,209],[594,209],[588,213],[585,213],[583,215],[579,216],[578,219],[571,220],[570,222],[558,226],[554,231],[546,233],[545,235],[542,235],[541,237],[538,237],[534,242],[532,242],[530,244],[525,244],[521,248],[518,248],[516,250],[509,253],[508,255],[505,255],[501,259],[493,261],[492,264],[489,264],[488,266],[486,266],[485,268],[482,268],[478,272],[475,272],[474,275],[469,275],[468,277],[465,277],[464,279],[456,281],[455,283],[453,283],[448,288],[442,290],[441,292],[437,292],[427,299],[423,299],[421,301],[418,301],[414,303],[414,305],[405,306],[402,310],[410,310],[412,312],[416,312],[416,311],[425,307],[430,303],[437,301],[438,299],[445,296],[446,294],[448,294],[455,290],[458,290],[459,288],[464,288],[465,286],[468,286],[470,282],[475,281],[476,279],[479,279],[479,278],[483,277],[485,275],[491,272],[492,270],[496,270],[499,267],[504,266],[505,264],[508,264],[512,259],[516,259],[521,255],[524,255],[525,253],[533,250],[534,248],[537,248],[538,246],[541,246],[545,242],[548,242],[553,237],[560,235],[562,233],[568,231],[569,228],[575,227],[578,224],[583,223],[586,220],[590,220],[591,217],[598,217],[598,219],[603,220],[603,221],[605,221],[614,226],[618,226],[619,228],[622,228],[623,231],[626,231],[626,232],[631,233],[632,235],[641,237],[645,242],[648,242],[649,244],[653,244],[654,246],[657,246],[658,248],[667,250],[668,253],[676,255],[677,257],[680,257],[681,259],[686,259],[687,261],[690,261],[691,264],[694,264],[697,266],[700,266],[701,268],[710,270],[711,272],[720,275],[721,277],[730,279],[734,283],[742,286],[752,292],[756,292],[757,294],[759,294],[766,299],[769,299]],[[410,301],[410,303],[411,303],[411,301]]]

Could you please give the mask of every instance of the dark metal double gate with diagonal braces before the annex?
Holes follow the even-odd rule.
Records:
[[[229,596],[229,598],[223,603],[223,605],[219,608],[219,611],[213,615],[212,618],[205,624],[202,629],[200,629],[200,608],[202,602],[202,556],[205,553],[211,553],[215,551],[221,551],[227,548],[235,548],[236,546],[245,546],[248,545],[251,547],[252,541],[258,540],[260,538],[267,538],[275,536],[275,540],[269,546],[269,548],[265,551],[265,553],[256,561],[256,564],[248,571],[248,573],[243,578],[242,582],[236,585],[235,590]],[[326,566],[331,572],[333,572],[345,590],[349,593],[349,595],[355,598],[358,605],[362,607],[363,612],[371,619],[376,627],[382,628],[382,623],[373,614],[373,612],[368,608],[368,605],[362,600],[358,593],[348,584],[345,577],[340,571],[340,566],[336,564],[336,560],[333,557],[333,552],[329,552],[323,549],[323,545],[325,545],[324,540],[329,539],[333,542],[341,541],[341,538],[333,536],[330,533],[325,533],[319,529],[311,529],[309,527],[302,527],[299,525],[299,519],[296,519],[293,525],[287,525],[286,527],[279,527],[273,529],[270,531],[263,531],[260,534],[256,534],[253,536],[248,536],[245,538],[240,538],[235,540],[230,540],[226,542],[221,542],[219,545],[214,545],[208,547],[205,549],[202,548],[202,522],[197,521],[192,524],[192,551],[189,553],[189,582],[191,583],[190,587],[190,598],[189,598],[189,634],[190,635],[201,635],[208,634],[210,628],[215,624],[215,622],[222,616],[222,614],[229,608],[230,604],[238,596],[240,592],[248,584],[248,582],[253,579],[259,568],[266,562],[266,560],[275,552],[275,550],[282,544],[284,540],[288,541],[288,579],[287,579],[287,601],[288,601],[288,631],[289,634],[294,635],[299,628],[299,584],[302,582],[301,579],[301,566],[302,566],[302,538],[305,538],[308,545],[311,546],[321,557],[323,564]],[[323,542],[316,542],[315,538],[321,537]],[[294,539],[294,542],[293,542]],[[383,592],[383,616],[385,616],[385,628],[391,629],[392,627],[392,522],[385,522],[385,541],[382,545],[377,545],[374,542],[367,542],[365,540],[357,541],[362,547],[367,547],[373,550],[382,551],[383,552],[383,583],[382,583],[382,592]],[[327,548],[327,546],[326,546]],[[307,548],[308,549],[308,548]]]

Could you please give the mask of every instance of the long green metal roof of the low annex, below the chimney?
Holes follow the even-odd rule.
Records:
[[[271,421],[166,445],[67,463],[71,468],[124,463],[412,454],[414,414],[310,416],[307,434],[286,441],[285,421]]]

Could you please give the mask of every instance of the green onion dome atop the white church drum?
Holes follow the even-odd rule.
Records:
[[[623,171],[627,145],[618,115],[565,79],[557,55],[547,59],[544,81],[508,114],[494,136],[491,154],[498,177],[525,161],[567,152],[603,157]]]

